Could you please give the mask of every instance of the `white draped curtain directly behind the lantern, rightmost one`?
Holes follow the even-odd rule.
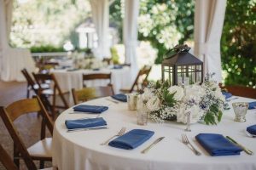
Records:
[[[205,73],[215,73],[222,81],[220,38],[226,0],[195,0],[195,56],[204,62]]]

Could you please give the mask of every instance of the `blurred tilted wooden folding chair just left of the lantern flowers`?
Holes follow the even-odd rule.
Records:
[[[125,89],[122,88],[120,89],[120,92],[124,94],[129,94],[133,91],[140,92],[143,90],[143,87],[147,86],[148,84],[148,75],[149,72],[151,71],[151,66],[145,65],[143,68],[137,73],[137,77],[135,81],[133,82],[132,86],[130,89]]]

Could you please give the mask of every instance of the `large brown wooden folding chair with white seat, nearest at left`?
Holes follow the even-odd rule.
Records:
[[[26,149],[26,146],[15,127],[14,121],[20,116],[32,112],[38,112],[42,116],[41,140]],[[21,99],[6,108],[0,107],[0,115],[11,138],[14,140],[14,161],[17,167],[20,166],[20,157],[24,159],[26,166],[29,169],[36,169],[32,160],[40,161],[40,168],[44,167],[44,161],[52,161],[52,139],[45,138],[45,127],[48,127],[49,133],[52,135],[53,122],[38,96],[33,99]]]

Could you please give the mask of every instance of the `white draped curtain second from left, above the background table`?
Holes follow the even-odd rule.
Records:
[[[108,0],[90,0],[92,20],[96,27],[98,47],[93,49],[97,58],[110,56],[109,49],[109,7]]]

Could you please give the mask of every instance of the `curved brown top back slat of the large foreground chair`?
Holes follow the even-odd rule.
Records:
[[[6,111],[9,112],[10,119],[15,121],[16,118],[26,113],[41,111],[41,108],[38,105],[38,99],[21,99],[9,105]]]

